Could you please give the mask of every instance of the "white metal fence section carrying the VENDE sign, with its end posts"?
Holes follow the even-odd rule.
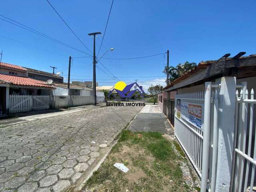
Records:
[[[218,156],[218,85],[205,92],[176,94],[175,136],[201,178],[201,191],[215,191]]]

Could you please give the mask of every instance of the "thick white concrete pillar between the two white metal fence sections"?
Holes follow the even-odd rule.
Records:
[[[222,77],[218,110],[218,160],[216,192],[229,192],[234,148],[236,78]]]

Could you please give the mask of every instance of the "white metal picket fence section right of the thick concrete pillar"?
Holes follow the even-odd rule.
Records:
[[[236,91],[234,152],[230,192],[255,191],[256,123],[254,90],[246,82]]]

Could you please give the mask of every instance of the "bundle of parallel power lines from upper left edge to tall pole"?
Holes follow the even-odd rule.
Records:
[[[0,15],[0,16],[2,16],[2,15]],[[7,17],[5,17],[5,16],[2,16],[2,17],[7,18]],[[48,35],[46,35],[46,34],[44,34],[44,33],[41,33],[41,32],[39,32],[39,31],[37,31],[37,30],[34,30],[34,29],[32,29],[32,28],[30,28],[30,27],[28,27],[28,26],[26,26],[26,25],[23,25],[23,24],[21,24],[21,23],[19,23],[19,22],[16,22],[16,21],[14,21],[14,20],[12,20],[12,19],[10,19],[10,18],[7,18],[7,19],[10,20],[10,21],[15,22],[15,23],[17,23],[17,24],[15,24],[15,23],[13,23],[13,22],[10,22],[10,21],[8,21],[8,20],[5,20],[5,19],[3,19],[3,18],[0,18],[0,19],[3,20],[3,21],[5,21],[5,22],[8,22],[8,23],[10,23],[10,24],[12,24],[12,25],[18,26],[18,27],[20,27],[20,28],[22,28],[22,29],[28,30],[28,31],[30,31],[30,32],[32,32],[32,33],[34,33],[34,34],[37,34],[37,35],[40,35],[40,36],[42,36],[42,37],[44,37],[44,38],[47,38],[47,39],[49,39],[49,40],[52,40],[52,41],[54,41],[54,42],[56,42],[56,43],[58,43],[58,44],[62,44],[62,45],[64,45],[64,46],[68,47],[68,48],[72,48],[72,49],[74,49],[74,50],[76,50],[76,51],[79,51],[79,52],[82,52],[82,53],[84,53],[84,54],[90,55],[90,54],[88,54],[88,53],[86,53],[86,52],[84,52],[84,51],[82,51],[82,50],[79,50],[79,49],[77,49],[77,48],[74,48],[74,47],[72,47],[72,46],[70,46],[70,45],[68,45],[68,44],[66,44],[66,43],[64,43],[64,42],[61,42],[60,40],[57,40],[57,39],[55,39],[55,38],[52,38],[52,37],[50,37],[50,36],[48,36]],[[18,25],[18,24],[19,24],[19,25]],[[91,55],[90,55],[90,56],[91,56]]]

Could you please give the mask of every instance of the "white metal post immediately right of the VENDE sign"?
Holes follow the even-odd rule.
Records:
[[[206,192],[209,171],[209,144],[210,144],[210,114],[212,82],[205,82],[204,93],[204,139],[202,150],[202,178],[201,192]]]

